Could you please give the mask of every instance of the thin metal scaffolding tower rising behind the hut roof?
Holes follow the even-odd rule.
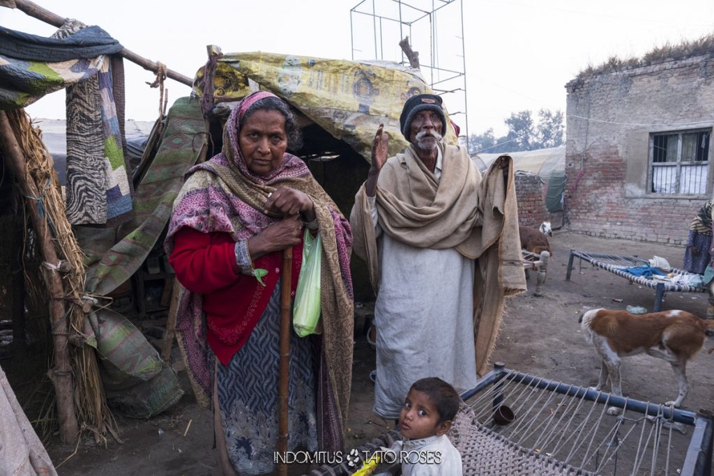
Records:
[[[448,8],[447,8],[448,7]],[[468,138],[463,0],[362,0],[350,10],[352,59],[409,65],[399,41],[419,52],[424,80],[444,99],[449,116]]]

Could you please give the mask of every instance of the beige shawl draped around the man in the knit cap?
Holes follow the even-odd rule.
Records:
[[[467,258],[477,259],[474,344],[476,369],[483,375],[496,345],[503,298],[526,290],[513,159],[499,157],[481,178],[463,147],[440,147],[440,181],[416,156],[413,146],[388,159],[377,183],[378,222],[391,238],[416,248],[456,248]],[[364,186],[357,193],[350,221],[354,252],[366,261],[378,292],[378,248]]]

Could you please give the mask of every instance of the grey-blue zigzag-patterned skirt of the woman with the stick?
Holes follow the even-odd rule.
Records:
[[[241,475],[275,469],[278,447],[280,283],[243,347],[218,363],[218,403],[226,449]],[[317,450],[313,339],[291,332],[288,450]]]

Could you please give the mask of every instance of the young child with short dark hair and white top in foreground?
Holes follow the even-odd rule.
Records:
[[[403,476],[462,476],[461,454],[446,436],[461,398],[441,378],[411,385],[399,413],[403,441],[390,450],[401,460]]]

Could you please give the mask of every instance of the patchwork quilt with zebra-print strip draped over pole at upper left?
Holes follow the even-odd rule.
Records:
[[[0,108],[21,108],[67,88],[69,222],[114,226],[129,220],[134,191],[124,158],[121,44],[76,20],[50,38],[0,27],[0,40]]]

